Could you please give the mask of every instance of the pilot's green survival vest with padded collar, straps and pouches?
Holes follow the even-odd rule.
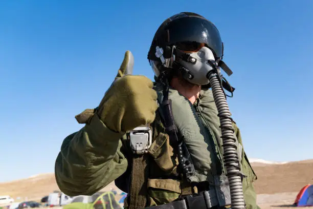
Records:
[[[155,83],[154,89],[161,103],[162,88]],[[219,205],[229,205],[220,123],[212,91],[202,90],[194,105],[174,89],[170,89],[168,98],[172,101],[175,126],[184,136],[194,175],[186,179],[179,171],[176,144],[166,133],[164,111],[159,108],[154,122],[150,124],[152,144],[147,154],[133,154],[127,136],[122,139],[122,152],[128,159],[128,168],[115,183],[128,193],[124,207],[133,209],[161,205],[204,190],[214,191]],[[235,123],[233,126],[236,126]],[[256,175],[243,152],[241,139],[236,141],[236,146],[240,170],[245,178],[242,182],[244,189],[256,179]]]

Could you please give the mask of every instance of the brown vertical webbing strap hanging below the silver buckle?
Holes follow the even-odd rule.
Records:
[[[135,155],[132,158],[132,172],[129,189],[129,209],[138,209],[147,203],[148,155]]]

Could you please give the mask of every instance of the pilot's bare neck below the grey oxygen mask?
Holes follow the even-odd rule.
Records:
[[[181,77],[173,77],[170,85],[173,89],[185,96],[192,104],[199,97],[201,90],[201,86],[194,85]]]

